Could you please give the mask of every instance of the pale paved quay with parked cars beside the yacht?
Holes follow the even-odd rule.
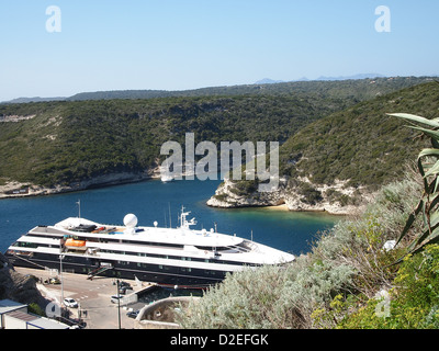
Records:
[[[15,268],[19,273],[32,274],[44,282],[56,274],[49,271],[35,270],[29,268]],[[130,283],[134,292],[137,292],[150,283],[142,283],[139,286],[133,280],[121,280]],[[117,304],[111,302],[111,296],[117,294],[117,286],[113,278],[94,276],[88,280],[86,274],[74,274],[63,272],[63,284],[43,284],[37,283],[37,287],[49,301],[59,304],[63,298],[75,298],[79,308],[68,308],[71,317],[77,318],[79,310],[83,321],[87,322],[86,329],[119,329],[119,308]],[[127,307],[139,309],[145,304],[136,303]],[[121,305],[121,328],[133,329],[134,318],[126,316],[127,309]]]

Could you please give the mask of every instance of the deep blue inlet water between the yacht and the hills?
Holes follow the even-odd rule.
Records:
[[[37,225],[53,225],[66,217],[122,225],[127,213],[138,217],[138,225],[178,226],[181,206],[195,217],[196,229],[216,227],[219,233],[236,234],[274,248],[300,254],[309,251],[316,233],[334,226],[339,217],[320,213],[292,213],[267,208],[213,208],[205,205],[221,181],[159,180],[87,190],[75,193],[0,201],[0,251]],[[169,216],[169,213],[171,214]]]

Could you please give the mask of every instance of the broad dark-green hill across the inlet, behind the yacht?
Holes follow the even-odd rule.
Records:
[[[184,133],[195,133],[195,143],[283,144],[312,122],[426,80],[402,77],[236,87],[227,88],[227,97],[1,104],[0,185],[19,182],[9,191],[41,185],[57,192],[57,186],[75,190],[145,179],[159,163],[160,146],[167,140],[183,144]],[[243,94],[247,88],[258,93]],[[203,93],[222,93],[215,89]]]

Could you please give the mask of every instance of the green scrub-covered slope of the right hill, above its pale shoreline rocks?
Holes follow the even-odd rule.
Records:
[[[371,189],[397,180],[425,143],[402,127],[404,122],[386,115],[402,111],[438,117],[439,84],[378,97],[309,124],[282,146],[281,173],[308,177],[316,184],[338,179]]]

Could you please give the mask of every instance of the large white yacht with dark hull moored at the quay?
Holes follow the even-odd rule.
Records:
[[[192,229],[190,212],[180,215],[180,227],[137,226],[128,214],[124,226],[104,225],[70,217],[53,226],[36,226],[13,245],[5,256],[16,267],[122,279],[161,285],[206,287],[227,272],[262,264],[292,262],[294,256],[248,239]]]

